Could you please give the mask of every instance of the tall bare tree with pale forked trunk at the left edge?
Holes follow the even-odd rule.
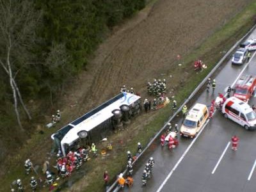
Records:
[[[29,49],[35,40],[35,28],[39,19],[40,13],[35,11],[33,1],[0,0],[0,64],[9,78],[13,107],[22,130],[17,97],[29,119],[31,115],[22,100],[13,74],[29,58]]]

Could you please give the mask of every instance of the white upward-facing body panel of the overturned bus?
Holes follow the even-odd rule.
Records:
[[[124,93],[123,97],[120,97],[120,99],[109,104],[105,108],[102,108],[100,111],[98,111],[97,113],[94,113],[92,116],[88,116],[88,118],[79,122],[79,124],[74,125],[73,122],[70,123],[69,125],[72,126],[73,128],[70,129],[65,134],[65,136],[61,140],[61,145],[63,145],[64,143],[68,145],[72,145],[73,141],[76,141],[79,138],[77,134],[78,132],[80,131],[88,132],[92,130],[94,127],[97,127],[97,125],[100,125],[102,122],[108,120],[108,118],[111,118],[113,116],[113,113],[112,113],[113,110],[120,109],[120,106],[124,104],[130,106],[132,103],[136,102],[136,100],[138,99],[140,99],[140,96],[138,95],[134,95],[131,93]],[[79,118],[77,120],[79,120]]]

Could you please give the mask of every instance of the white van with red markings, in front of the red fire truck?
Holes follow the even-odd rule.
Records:
[[[225,118],[230,118],[244,129],[256,129],[256,113],[246,102],[230,97],[224,102],[221,111]]]

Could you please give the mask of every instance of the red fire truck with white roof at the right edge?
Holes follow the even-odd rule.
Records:
[[[246,75],[242,76],[237,80],[237,83],[234,87],[234,97],[248,102],[250,97],[253,95],[256,87],[256,78]]]

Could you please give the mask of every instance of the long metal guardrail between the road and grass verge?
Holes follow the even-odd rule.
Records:
[[[159,135],[161,134],[161,132],[164,131],[164,129],[166,129],[166,125],[168,124],[168,122],[171,122],[173,120],[173,118],[175,118],[175,116],[181,111],[181,109],[184,107],[184,105],[186,105],[190,99],[192,99],[194,97],[194,95],[198,92],[198,90],[200,90],[200,88],[205,84],[205,82],[207,81],[207,79],[209,77],[212,76],[212,74],[214,74],[214,72],[217,70],[218,67],[220,67],[220,65],[223,63],[223,61],[230,55],[230,53],[232,51],[234,51],[234,49],[240,44],[240,42],[242,40],[244,40],[244,38],[246,38],[246,36],[248,36],[250,33],[252,33],[252,31],[256,28],[256,25],[253,26],[252,29],[250,29],[246,35],[244,35],[242,38],[240,38],[236,44],[233,45],[233,47],[231,47],[231,49],[225,54],[225,56],[223,56],[223,58],[221,58],[221,60],[216,64],[216,66],[214,68],[212,68],[211,72],[209,72],[209,74],[204,78],[203,81],[201,81],[200,84],[198,84],[198,86],[195,88],[195,90],[189,95],[189,97],[183,102],[183,104],[179,107],[179,109],[177,109],[177,111],[175,111],[175,113],[170,116],[170,118],[168,119],[167,123],[164,124],[164,126],[157,132],[157,134],[154,136],[154,138],[152,138],[152,140],[149,141],[148,145],[142,150],[142,152],[140,153],[140,155],[132,162],[132,164],[136,163],[136,161],[138,161],[138,159],[140,159],[140,157],[143,155],[143,153],[148,149],[148,147],[150,147],[150,145],[154,142],[154,140],[156,140],[157,137],[159,137]],[[123,174],[125,174],[127,172],[127,170],[124,170]],[[116,186],[117,184],[117,180],[108,188],[108,190],[106,192],[117,192],[119,190],[118,186]],[[115,188],[116,186],[116,188]],[[115,189],[114,189],[115,188]],[[113,190],[114,189],[114,190]]]

